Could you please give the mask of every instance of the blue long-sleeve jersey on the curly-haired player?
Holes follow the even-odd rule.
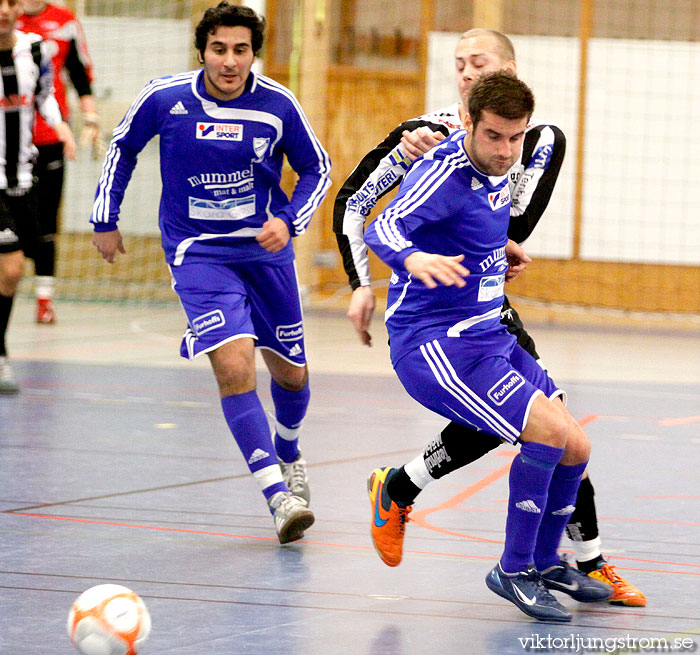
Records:
[[[291,261],[255,237],[276,216],[302,234],[330,186],[330,159],[294,95],[250,73],[230,101],[210,96],[203,71],[150,82],[114,131],[91,216],[96,231],[116,229],[139,152],[160,136],[163,190],[159,227],[166,260]],[[291,198],[280,188],[283,156],[299,179]]]

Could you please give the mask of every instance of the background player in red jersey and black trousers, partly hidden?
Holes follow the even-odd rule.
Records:
[[[68,120],[69,107],[64,77],[78,94],[83,118],[80,145],[90,145],[94,159],[104,155],[104,140],[100,132],[97,103],[92,95],[92,62],[87,50],[83,29],[67,7],[44,2],[23,0],[24,13],[17,21],[17,29],[38,34],[52,49],[54,92],[61,114]],[[39,226],[41,234],[34,256],[34,291],[37,298],[37,323],[51,324],[56,320],[53,303],[56,268],[56,232],[58,209],[63,192],[63,148],[56,131],[40,115],[34,126],[34,145],[39,156],[34,168],[40,189]]]

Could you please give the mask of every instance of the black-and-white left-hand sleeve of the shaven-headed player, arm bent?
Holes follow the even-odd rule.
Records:
[[[445,136],[449,136],[449,130],[446,126],[430,121],[412,119],[401,123],[393,129],[387,137],[375,148],[370,150],[355,167],[355,170],[350,173],[350,176],[345,180],[338,191],[333,205],[333,232],[335,232],[338,242],[338,249],[343,260],[343,267],[348,275],[350,286],[356,289],[360,286],[357,269],[355,266],[355,255],[350,244],[350,240],[345,232],[345,215],[348,210],[348,202],[353,196],[363,190],[368,179],[373,174],[381,176],[381,184],[371,185],[371,188],[363,190],[367,195],[363,195],[364,208],[361,214],[366,219],[371,208],[374,207],[377,200],[394,189],[401,181],[407,166],[401,167],[397,162],[384,161],[385,157],[391,154],[392,150],[401,143],[401,135],[404,130],[413,131],[419,127],[426,126],[433,131],[442,132]],[[380,171],[385,168],[386,172]]]

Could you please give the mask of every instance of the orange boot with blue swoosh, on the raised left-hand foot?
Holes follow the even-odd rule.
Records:
[[[403,537],[412,507],[400,507],[386,492],[386,479],[395,471],[391,467],[374,469],[367,480],[372,503],[372,542],[377,555],[387,566],[401,564]]]

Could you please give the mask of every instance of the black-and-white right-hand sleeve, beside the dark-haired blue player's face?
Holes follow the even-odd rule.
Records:
[[[522,206],[517,215],[511,211],[508,238],[522,243],[532,234],[552,197],[565,152],[566,137],[555,125],[538,125],[525,135],[523,168],[512,198],[514,206],[520,201]]]

